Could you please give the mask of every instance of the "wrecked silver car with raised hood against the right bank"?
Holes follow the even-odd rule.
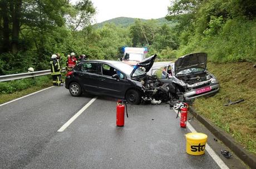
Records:
[[[159,79],[175,81],[176,87],[182,93],[180,101],[191,101],[199,96],[214,95],[219,91],[219,81],[206,68],[206,53],[191,53],[178,58],[174,63],[152,69],[152,75]]]

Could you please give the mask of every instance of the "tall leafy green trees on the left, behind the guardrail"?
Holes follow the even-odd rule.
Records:
[[[5,72],[24,71],[28,63],[46,69],[52,53],[66,52],[64,44],[71,36],[68,16],[80,18],[77,28],[83,28],[95,12],[90,0],[74,6],[66,0],[0,0],[0,5],[0,60],[6,63]]]

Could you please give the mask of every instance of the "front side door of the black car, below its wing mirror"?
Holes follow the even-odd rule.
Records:
[[[99,67],[101,71],[99,89],[102,95],[124,99],[126,89],[130,86],[126,76],[109,64],[102,63]],[[118,75],[118,78],[112,77],[115,74]]]

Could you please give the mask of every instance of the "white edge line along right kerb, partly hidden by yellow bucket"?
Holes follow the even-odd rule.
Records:
[[[175,111],[175,112],[177,113],[178,111]],[[188,126],[188,128],[191,132],[196,132],[194,127],[191,126],[188,121],[186,122],[186,125]],[[213,149],[208,144],[206,144],[205,150],[209,153],[209,155],[213,158],[213,160],[218,164],[218,166],[221,169],[229,169],[229,167],[221,160],[221,158],[218,155],[216,155],[216,153],[213,151]]]

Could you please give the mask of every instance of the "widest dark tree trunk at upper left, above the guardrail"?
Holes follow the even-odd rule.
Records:
[[[12,15],[12,53],[18,52],[22,0],[10,1]]]

